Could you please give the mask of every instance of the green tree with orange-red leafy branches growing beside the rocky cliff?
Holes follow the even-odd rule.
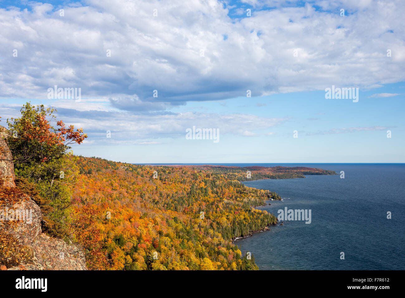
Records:
[[[70,189],[77,171],[75,159],[68,157],[69,145],[81,144],[87,135],[81,128],[75,130],[62,120],[56,121],[56,110],[44,105],[26,103],[20,111],[20,118],[7,119],[7,143],[13,154],[16,181],[24,183],[21,188],[32,189],[30,194],[44,213],[45,232],[64,238],[71,211]],[[51,121],[56,121],[56,128]]]

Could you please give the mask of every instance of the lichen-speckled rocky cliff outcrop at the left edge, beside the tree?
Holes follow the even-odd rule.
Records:
[[[3,139],[6,135],[0,126],[0,233],[5,240],[0,243],[1,270],[86,270],[83,250],[43,234],[39,206],[15,188],[13,157]],[[6,244],[7,240],[11,243]],[[19,259],[15,255],[27,257],[15,261]],[[12,264],[12,259],[18,264]]]

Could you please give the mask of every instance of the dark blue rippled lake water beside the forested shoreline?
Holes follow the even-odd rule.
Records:
[[[283,202],[261,208],[276,216],[284,207],[311,209],[311,224],[288,221],[235,241],[242,252],[254,255],[260,269],[405,270],[405,164],[277,165],[344,171],[345,178],[314,175],[243,182],[280,194]],[[392,219],[387,219],[387,211]]]

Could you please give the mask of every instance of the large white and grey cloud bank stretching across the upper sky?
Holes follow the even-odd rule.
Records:
[[[260,96],[404,80],[402,1],[244,2],[256,9],[251,17],[232,18],[238,8],[214,0],[0,9],[7,45],[0,49],[0,96],[45,99],[58,85],[117,109],[153,112],[246,90]]]

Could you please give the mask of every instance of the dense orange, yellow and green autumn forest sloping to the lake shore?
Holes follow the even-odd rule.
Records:
[[[89,258],[90,268],[257,269],[231,239],[276,223],[272,214],[251,208],[263,205],[269,191],[189,167],[87,157],[77,165],[73,233],[76,223],[89,254],[105,255]],[[83,221],[90,221],[87,229]]]

